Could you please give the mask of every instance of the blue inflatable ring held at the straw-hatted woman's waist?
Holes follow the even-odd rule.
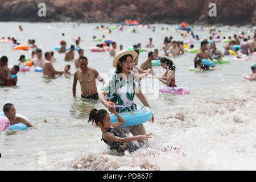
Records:
[[[146,106],[138,106],[137,110],[129,111],[129,112],[122,112],[118,113],[120,114],[123,119],[125,119],[125,125],[122,125],[121,127],[125,126],[133,126],[133,125],[139,125],[144,122],[149,121],[152,118],[152,110],[149,107]],[[111,123],[117,122],[117,117],[114,113],[110,114]]]

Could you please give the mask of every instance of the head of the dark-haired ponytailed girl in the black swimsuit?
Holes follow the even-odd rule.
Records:
[[[96,126],[110,128],[111,120],[105,109],[93,109],[90,111],[88,122],[96,123]]]

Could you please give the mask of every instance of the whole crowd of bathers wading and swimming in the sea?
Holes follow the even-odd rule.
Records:
[[[152,28],[152,31],[156,31],[155,27],[147,26]],[[20,31],[24,31],[23,28],[19,27]],[[104,27],[96,27],[95,30],[106,30],[106,33],[113,34],[113,32]],[[116,30],[123,31],[123,26],[117,26]],[[162,28],[160,31],[167,32],[168,28]],[[100,76],[100,73],[96,68],[88,67],[88,58],[84,55],[84,49],[79,44],[82,41],[81,38],[74,39],[75,45],[71,45],[67,50],[67,43],[61,40],[60,47],[57,52],[63,53],[65,61],[73,61],[73,66],[76,68],[75,73],[70,72],[71,64],[67,64],[64,67],[64,71],[56,71],[53,64],[56,62],[53,57],[53,51],[46,51],[38,48],[35,44],[35,40],[28,40],[27,46],[34,49],[30,57],[20,55],[19,64],[13,67],[8,67],[8,57],[2,55],[0,58],[0,85],[1,86],[14,86],[17,84],[18,77],[17,73],[22,69],[26,71],[26,67],[42,68],[42,73],[46,77],[55,77],[56,75],[73,76],[72,92],[73,97],[76,97],[76,85],[79,80],[81,86],[81,98],[88,100],[100,100],[100,102],[106,107],[104,109],[93,109],[89,114],[89,121],[95,123],[100,127],[102,131],[102,139],[106,144],[110,146],[110,149],[116,150],[121,154],[127,150],[129,152],[137,150],[147,142],[148,138],[152,137],[152,134],[147,134],[143,124],[120,127],[125,124],[125,119],[121,117],[119,113],[129,112],[137,110],[137,105],[134,103],[134,97],[137,96],[144,106],[150,107],[146,97],[141,91],[140,82],[147,75],[152,75],[164,85],[177,87],[175,82],[175,69],[176,66],[172,59],[177,56],[181,56],[184,53],[195,50],[193,43],[201,42],[200,49],[195,52],[196,55],[193,57],[193,65],[199,72],[204,72],[209,69],[208,65],[203,64],[203,60],[217,60],[221,61],[225,55],[236,55],[238,59],[256,54],[256,30],[254,30],[254,36],[246,35],[241,32],[240,35],[233,35],[226,38],[223,32],[216,31],[216,28],[209,28],[209,39],[199,39],[199,35],[194,35],[191,31],[181,31],[181,39],[187,39],[186,42],[183,40],[173,40],[172,36],[165,37],[163,40],[163,46],[155,48],[152,38],[148,39],[148,44],[145,48],[154,48],[154,52],[150,51],[147,53],[147,59],[142,61],[139,66],[138,59],[141,52],[146,52],[146,49],[142,48],[140,43],[134,44],[130,48],[123,48],[114,41],[104,41],[105,36],[97,39],[96,36],[92,37],[93,41],[101,42],[96,47],[90,48],[91,51],[106,52],[109,51],[110,56],[113,57],[113,67],[116,68],[115,72],[111,73],[107,80],[104,80]],[[198,31],[203,31],[203,28]],[[135,28],[133,31],[135,32]],[[174,30],[178,32],[178,30]],[[64,34],[63,34],[64,36]],[[2,38],[2,43],[9,43],[11,47],[19,46],[15,38]],[[226,43],[224,46],[225,52],[222,53],[216,47],[216,43]],[[233,48],[233,47],[236,48]],[[231,50],[231,51],[230,51]],[[75,51],[78,52],[78,56],[75,57]],[[256,58],[256,56],[255,56]],[[159,76],[152,71],[152,61],[159,60],[160,66],[163,67],[166,72],[163,76]],[[69,62],[67,62],[69,63]],[[214,67],[214,65],[213,65]],[[256,64],[251,65],[251,78],[250,80],[256,80]],[[119,77],[119,73],[122,73],[122,79]],[[127,83],[126,80],[133,78],[132,82]],[[102,83],[102,90],[98,93],[96,87],[96,79]],[[117,88],[117,85],[122,85]],[[114,88],[114,89],[113,89]],[[126,89],[123,89],[126,88]],[[125,90],[125,92],[123,92]],[[118,122],[111,123],[109,113],[114,113],[118,118]],[[22,117],[15,116],[15,107],[13,104],[7,103],[3,106],[3,113],[9,119],[10,124],[22,122],[28,127],[33,125],[26,121]],[[154,122],[154,113],[150,122]],[[118,128],[118,129],[117,129]],[[133,137],[127,137],[125,134],[132,134]],[[139,146],[133,143],[137,140]]]

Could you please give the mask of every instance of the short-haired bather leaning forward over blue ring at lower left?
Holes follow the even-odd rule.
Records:
[[[7,103],[3,106],[3,113],[10,121],[10,125],[15,125],[17,123],[24,123],[28,127],[34,127],[26,119],[16,116],[16,110],[13,104]]]

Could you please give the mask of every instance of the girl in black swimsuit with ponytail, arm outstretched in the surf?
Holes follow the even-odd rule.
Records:
[[[139,147],[133,143],[134,140],[147,140],[151,138],[152,133],[146,135],[137,135],[134,137],[126,137],[121,131],[117,129],[125,124],[125,119],[121,117],[113,107],[110,110],[115,114],[118,121],[111,123],[109,113],[104,109],[93,109],[90,111],[88,122],[92,121],[96,123],[97,126],[100,126],[102,132],[102,139],[106,144],[110,146],[110,150],[116,150],[119,154],[124,155],[125,151],[133,152],[139,149]]]

